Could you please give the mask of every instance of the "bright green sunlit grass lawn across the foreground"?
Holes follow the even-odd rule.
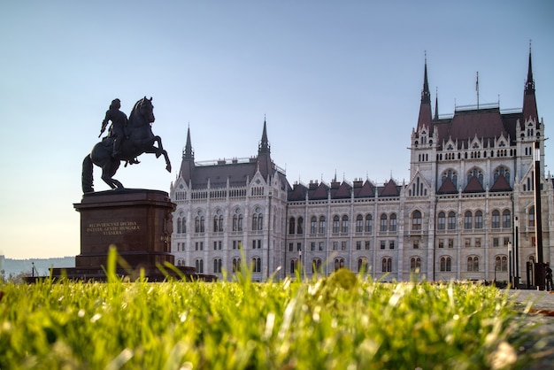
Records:
[[[0,290],[1,369],[483,369],[529,359],[518,351],[521,312],[502,290],[469,284],[339,270],[302,282],[111,275]]]

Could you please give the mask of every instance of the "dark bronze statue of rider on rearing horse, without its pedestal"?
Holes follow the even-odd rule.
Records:
[[[154,122],[154,106],[152,98],[144,96],[136,102],[129,118],[124,112],[120,112],[121,102],[114,99],[110,109],[106,112],[100,137],[108,123],[112,121],[108,135],[102,138],[102,142],[96,143],[90,154],[82,161],[81,185],[83,193],[94,192],[93,165],[102,168],[102,180],[112,189],[123,189],[121,182],[115,180],[113,175],[118,171],[121,161],[134,165],[140,163],[137,157],[142,153],[153,153],[156,158],[164,156],[165,169],[171,172],[171,163],[164,150],[162,139],[152,134],[151,124]],[[154,143],[158,143],[155,146]]]

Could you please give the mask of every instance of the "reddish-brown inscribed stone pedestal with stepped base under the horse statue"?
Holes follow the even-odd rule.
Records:
[[[55,268],[54,277],[65,274],[69,278],[104,280],[111,246],[125,260],[118,264],[119,275],[134,279],[142,269],[150,281],[160,281],[171,273],[166,267],[165,273],[158,269],[165,262],[174,265],[171,235],[175,204],[165,191],[100,191],[85,194],[81,203],[73,206],[81,213],[81,254],[75,258],[75,268]],[[212,280],[196,275],[194,267],[177,268],[191,278]]]

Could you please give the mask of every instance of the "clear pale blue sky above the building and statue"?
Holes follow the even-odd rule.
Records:
[[[520,109],[529,40],[552,136],[551,1],[2,1],[0,254],[80,253],[81,162],[115,97],[153,96],[173,162],[121,167],[127,188],[169,191],[187,127],[197,161],[255,156],[264,117],[291,184],[402,182],[426,52],[439,113],[477,103],[477,72],[481,104]]]

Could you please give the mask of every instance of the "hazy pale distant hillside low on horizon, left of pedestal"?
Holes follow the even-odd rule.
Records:
[[[35,275],[48,276],[50,267],[74,267],[74,257],[60,258],[28,258],[28,259],[12,259],[4,258],[0,255],[0,277],[10,277],[21,273],[31,274],[31,270],[35,264]]]

